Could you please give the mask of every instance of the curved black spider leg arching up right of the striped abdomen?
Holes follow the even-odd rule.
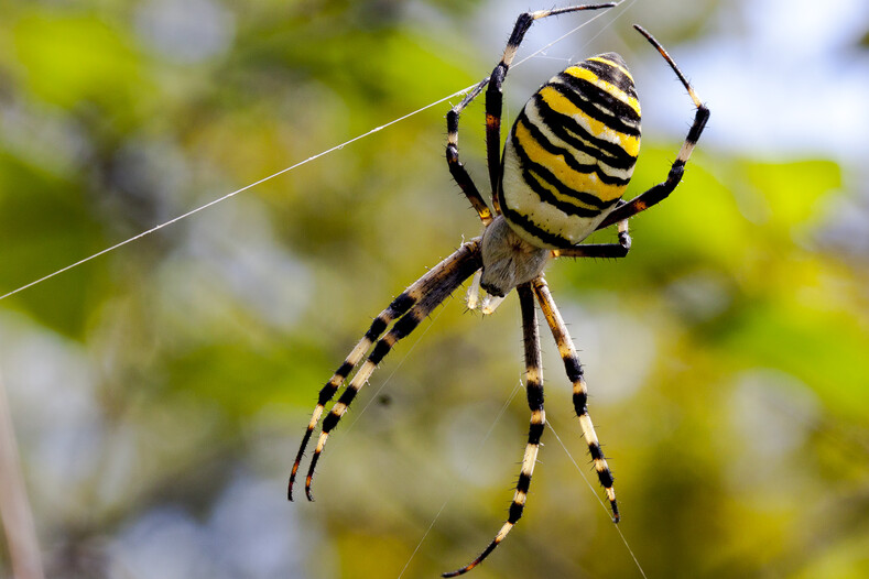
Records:
[[[694,101],[697,112],[694,114],[694,122],[692,123],[691,129],[688,129],[688,134],[685,138],[685,142],[682,144],[682,149],[680,149],[676,160],[670,167],[670,173],[666,176],[666,181],[659,183],[654,187],[641,193],[624,205],[613,209],[612,212],[600,222],[597,229],[604,229],[605,227],[609,227],[612,223],[622,221],[629,217],[633,217],[634,215],[647,210],[651,206],[661,203],[671,193],[673,193],[673,190],[676,188],[676,185],[678,185],[682,181],[682,175],[685,173],[685,164],[688,162],[691,153],[694,151],[694,146],[697,144],[700,133],[703,133],[703,129],[706,127],[706,121],[709,119],[709,109],[706,108],[706,105],[704,105],[703,101],[700,101],[700,98],[691,86],[691,83],[688,83],[688,79],[685,78],[685,75],[682,74],[682,70],[678,69],[678,66],[676,66],[676,63],[670,57],[664,47],[661,46],[661,44],[641,26],[634,24],[633,28],[637,29],[640,34],[647,37],[652,46],[654,46],[658,52],[661,53],[661,56],[664,57],[673,72],[676,73],[676,76],[682,81],[682,85],[688,91],[688,96]]]

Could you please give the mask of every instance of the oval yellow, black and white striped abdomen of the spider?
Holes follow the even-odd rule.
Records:
[[[552,77],[510,131],[498,192],[520,237],[583,241],[621,198],[640,152],[640,103],[624,61],[593,56]]]

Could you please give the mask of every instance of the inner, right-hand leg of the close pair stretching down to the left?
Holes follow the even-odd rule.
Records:
[[[323,448],[326,446],[326,440],[328,439],[332,429],[338,425],[338,422],[347,412],[347,408],[352,400],[356,397],[366,382],[368,382],[368,379],[377,369],[377,365],[392,350],[395,343],[398,343],[402,338],[408,337],[416,328],[416,326],[419,326],[419,324],[425,319],[432,313],[432,310],[434,310],[434,308],[436,308],[459,285],[461,285],[465,280],[470,277],[470,275],[480,267],[481,263],[479,245],[479,238],[475,238],[471,241],[464,243],[455,253],[442,261],[439,264],[433,267],[432,271],[426,274],[426,276],[423,276],[420,281],[414,283],[413,286],[411,286],[414,287],[423,280],[426,280],[426,283],[422,284],[420,292],[421,295],[416,299],[415,304],[409,307],[406,313],[398,318],[387,335],[377,341],[373,349],[371,350],[371,353],[368,354],[366,361],[362,362],[362,365],[359,367],[359,370],[357,370],[352,380],[350,380],[350,382],[347,384],[347,387],[341,393],[338,402],[335,403],[329,414],[323,418],[323,427],[319,438],[317,439],[317,446],[314,449],[314,456],[311,459],[311,466],[308,467],[307,477],[305,478],[305,494],[307,495],[308,501],[314,500],[311,494],[311,484],[314,480],[314,469],[317,466],[319,456],[323,454]],[[383,331],[383,329],[385,329],[385,327],[381,328],[381,331]],[[367,342],[367,339],[363,338],[362,342]],[[368,342],[369,346],[370,343],[371,342]],[[357,349],[354,349],[354,352]],[[365,351],[367,351],[367,348],[362,350],[362,353],[365,353]],[[347,363],[343,364],[341,368],[345,368],[346,364]],[[356,364],[354,363],[354,365]],[[347,370],[347,372],[349,373],[349,370]],[[330,398],[332,395],[335,394],[335,389],[332,389],[329,384],[324,387],[324,390],[326,389],[329,389],[327,394]],[[325,405],[325,402],[323,405]],[[319,403],[317,404],[319,413],[323,411],[323,405]],[[315,416],[312,417],[312,423],[308,425],[308,430],[305,433],[303,445],[311,436],[309,433],[313,430],[312,424],[316,426],[316,422],[314,420],[315,417],[318,418],[316,411]],[[304,446],[302,449],[300,449],[300,457],[296,458],[296,465],[301,460],[301,454],[303,451]],[[293,472],[295,473],[296,470],[296,466],[294,466]],[[293,479],[291,479],[291,491],[292,483]]]

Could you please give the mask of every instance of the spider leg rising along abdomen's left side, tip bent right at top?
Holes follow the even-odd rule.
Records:
[[[513,64],[517,50],[519,50],[519,45],[522,44],[525,33],[535,20],[542,18],[564,14],[566,12],[576,12],[578,10],[612,8],[615,6],[615,2],[608,2],[604,4],[585,4],[556,8],[553,10],[537,10],[536,12],[520,14],[517,19],[513,25],[513,32],[510,34],[510,40],[507,41],[507,47],[504,47],[501,62],[492,69],[492,74],[489,76],[489,86],[486,89],[486,164],[489,167],[489,182],[492,187],[492,204],[497,212],[500,214],[496,192],[501,181],[501,111],[503,108],[503,92],[501,86],[507,77],[510,65]]]

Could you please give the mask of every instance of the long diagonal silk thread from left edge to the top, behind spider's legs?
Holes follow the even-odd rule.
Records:
[[[620,2],[618,2],[618,3],[616,4],[616,7],[613,7],[613,10],[615,10],[615,9],[618,9],[618,8],[619,8],[619,6],[621,6],[621,4],[622,4],[624,1],[626,1],[626,0],[621,0]],[[630,6],[631,6],[631,4],[633,4],[636,1],[637,1],[637,0],[631,0],[631,2],[628,4],[628,8],[630,8]],[[583,22],[582,24],[579,24],[579,25],[578,25],[578,26],[576,26],[575,29],[571,30],[569,32],[567,32],[567,33],[565,33],[565,34],[563,34],[563,35],[561,35],[561,36],[558,36],[557,39],[555,39],[555,40],[554,40],[554,41],[552,41],[551,43],[546,44],[546,45],[545,45],[545,46],[543,46],[542,48],[540,48],[540,50],[537,50],[537,51],[535,51],[535,52],[531,53],[530,55],[525,56],[525,57],[524,57],[524,58],[522,58],[521,61],[517,62],[517,63],[513,65],[513,68],[515,68],[517,66],[520,66],[520,65],[521,65],[521,64],[523,64],[525,61],[528,61],[528,59],[530,59],[530,58],[533,58],[534,56],[537,56],[537,55],[540,55],[541,53],[545,52],[547,48],[550,48],[550,47],[552,47],[553,45],[555,45],[556,43],[558,43],[558,42],[563,41],[563,40],[564,40],[564,39],[566,39],[567,36],[572,35],[572,34],[575,34],[575,33],[576,33],[576,32],[578,32],[580,29],[585,28],[586,25],[590,24],[591,22],[594,22],[594,21],[595,21],[595,20],[597,20],[598,18],[602,17],[605,13],[606,13],[606,12],[600,12],[600,13],[598,13],[598,14],[595,14],[595,15],[593,15],[591,18],[589,18],[588,20],[586,20],[585,22]],[[615,22],[615,20],[617,20],[618,18],[619,18],[619,15],[616,15],[616,19],[613,19],[613,22]],[[610,22],[610,24],[611,24],[611,22]],[[609,24],[608,24],[608,25],[609,25]],[[608,26],[608,25],[607,25],[607,26]],[[591,40],[594,40],[594,37],[596,37],[596,36],[593,36],[593,37],[591,37],[591,39],[589,39],[589,41],[587,41],[587,42],[590,42]],[[488,80],[488,78],[487,78],[487,80]],[[476,87],[477,85],[478,85],[478,83],[475,83],[474,85],[471,85],[471,86],[469,86],[469,87],[465,87],[465,88],[463,88],[461,90],[457,90],[456,92],[453,92],[452,95],[448,95],[448,96],[446,96],[446,97],[444,97],[444,98],[442,98],[442,99],[438,99],[438,100],[436,100],[436,101],[434,101],[434,102],[431,102],[431,103],[428,103],[428,105],[425,105],[424,107],[421,107],[421,108],[419,108],[419,109],[414,110],[413,112],[409,112],[409,113],[406,113],[406,114],[403,114],[403,116],[401,116],[401,117],[399,117],[399,118],[397,118],[397,119],[393,119],[393,120],[391,120],[391,121],[387,122],[385,124],[381,124],[380,127],[376,127],[374,129],[371,129],[371,130],[370,130],[370,131],[368,131],[368,132],[365,132],[365,133],[362,133],[362,134],[360,134],[360,135],[354,136],[352,139],[350,139],[350,140],[348,140],[348,141],[345,141],[345,142],[343,142],[343,143],[340,143],[340,144],[337,144],[337,145],[335,145],[335,146],[333,146],[333,148],[330,148],[330,149],[326,149],[325,151],[322,151],[321,153],[317,153],[317,154],[315,154],[315,155],[312,155],[312,156],[309,156],[309,157],[305,159],[304,161],[300,161],[298,163],[295,163],[295,164],[293,164],[293,165],[290,165],[289,167],[282,168],[281,171],[279,171],[279,172],[276,172],[276,173],[272,173],[272,174],[271,174],[271,175],[269,175],[268,177],[263,177],[263,178],[261,178],[261,179],[259,179],[259,181],[256,181],[256,182],[253,182],[253,183],[251,183],[251,184],[249,184],[249,185],[246,185],[246,186],[241,187],[240,189],[236,189],[236,190],[233,190],[233,192],[231,192],[231,193],[227,193],[226,195],[224,195],[224,196],[221,196],[221,197],[218,197],[218,198],[216,198],[216,199],[213,199],[213,200],[210,200],[210,201],[208,201],[208,203],[206,203],[206,204],[204,204],[204,205],[200,205],[200,206],[198,206],[198,207],[195,207],[194,209],[191,209],[189,211],[187,211],[187,212],[185,212],[185,214],[182,214],[182,215],[180,215],[180,216],[177,216],[177,217],[173,217],[172,219],[170,219],[170,220],[167,220],[167,221],[164,221],[164,222],[162,222],[162,223],[160,223],[160,225],[156,225],[156,226],[152,227],[151,229],[148,229],[148,230],[145,230],[145,231],[142,231],[141,233],[137,233],[135,236],[133,236],[133,237],[131,237],[131,238],[128,238],[128,239],[126,239],[126,240],[123,240],[123,241],[120,241],[120,242],[118,242],[118,243],[116,243],[116,244],[113,244],[113,245],[111,245],[111,247],[108,247],[108,248],[106,248],[106,249],[104,249],[104,250],[100,250],[100,251],[98,251],[98,252],[96,252],[96,253],[94,253],[94,254],[91,254],[91,255],[88,255],[87,258],[84,258],[84,259],[82,259],[82,260],[79,260],[79,261],[77,261],[77,262],[75,262],[75,263],[70,263],[69,265],[66,265],[66,266],[64,266],[64,267],[61,267],[59,270],[56,270],[56,271],[54,271],[54,272],[52,272],[52,273],[50,273],[50,274],[47,274],[47,275],[44,275],[44,276],[42,276],[42,277],[40,277],[40,278],[37,278],[37,280],[34,280],[34,281],[32,281],[32,282],[30,282],[30,283],[26,283],[26,284],[24,284],[24,285],[22,285],[22,286],[20,286],[20,287],[17,287],[17,288],[12,290],[11,292],[8,292],[8,293],[6,293],[6,294],[3,294],[3,295],[0,295],[0,301],[3,301],[3,299],[6,299],[7,297],[11,297],[11,296],[13,296],[13,295],[15,295],[15,294],[18,294],[18,293],[21,293],[21,292],[23,292],[23,291],[25,291],[25,290],[29,290],[29,288],[33,287],[33,286],[35,286],[35,285],[39,285],[39,284],[41,284],[41,283],[43,283],[43,282],[46,282],[46,281],[51,280],[52,277],[55,277],[55,276],[57,276],[57,275],[61,275],[62,273],[66,273],[66,272],[68,272],[69,270],[73,270],[73,269],[75,269],[75,267],[78,267],[79,265],[84,265],[85,263],[88,263],[88,262],[90,262],[90,261],[93,261],[93,260],[95,260],[95,259],[97,259],[97,258],[100,258],[100,256],[102,256],[102,255],[107,254],[107,253],[111,253],[112,251],[115,251],[115,250],[118,250],[118,249],[120,249],[120,248],[122,248],[122,247],[124,247],[124,245],[127,245],[127,244],[129,244],[129,243],[132,243],[133,241],[138,241],[138,240],[140,240],[140,239],[142,239],[142,238],[144,238],[144,237],[146,237],[146,236],[150,236],[151,233],[155,233],[156,231],[160,231],[161,229],[163,229],[163,228],[165,228],[165,227],[169,227],[169,226],[171,226],[171,225],[177,223],[178,221],[181,221],[181,220],[183,220],[183,219],[186,219],[186,218],[188,218],[188,217],[192,217],[192,216],[194,216],[194,215],[198,214],[199,211],[203,211],[203,210],[205,210],[205,209],[208,209],[208,208],[209,208],[209,207],[211,207],[211,206],[215,206],[215,205],[217,205],[217,204],[219,204],[219,203],[222,203],[222,201],[225,201],[225,200],[227,200],[227,199],[229,199],[229,198],[231,198],[231,197],[235,197],[236,195],[238,195],[238,194],[240,194],[240,193],[243,193],[243,192],[246,192],[246,190],[248,190],[248,189],[251,189],[251,188],[253,188],[253,187],[256,187],[256,186],[258,186],[258,185],[262,185],[262,184],[263,184],[263,183],[265,183],[265,182],[269,182],[269,181],[271,181],[271,179],[273,179],[273,178],[276,178],[276,177],[279,177],[279,176],[281,176],[281,175],[285,174],[285,173],[289,173],[289,172],[291,172],[291,171],[293,171],[293,170],[295,170],[295,168],[298,168],[298,167],[301,167],[302,165],[306,165],[307,163],[311,163],[312,161],[316,161],[317,159],[319,159],[319,157],[323,157],[323,156],[326,156],[326,155],[328,155],[329,153],[334,153],[335,151],[339,151],[339,150],[344,149],[345,146],[347,146],[347,145],[349,145],[349,144],[352,144],[352,143],[355,143],[355,142],[357,142],[357,141],[360,141],[360,140],[362,140],[362,139],[365,139],[365,138],[367,138],[367,136],[370,136],[370,135],[374,134],[376,132],[382,131],[383,129],[387,129],[387,128],[389,128],[389,127],[391,127],[391,125],[393,125],[393,124],[397,124],[397,123],[399,123],[399,122],[401,122],[401,121],[404,121],[404,120],[406,120],[406,119],[409,119],[409,118],[411,118],[411,117],[414,117],[415,114],[419,114],[419,113],[421,113],[421,112],[423,112],[423,111],[425,111],[425,110],[427,110],[427,109],[431,109],[432,107],[436,107],[437,105],[441,105],[442,102],[445,102],[445,101],[447,101],[447,100],[449,100],[449,99],[452,99],[452,98],[455,98],[455,97],[458,97],[458,96],[465,95],[466,92],[468,92],[469,90],[471,90],[471,89],[472,89],[474,87]]]

